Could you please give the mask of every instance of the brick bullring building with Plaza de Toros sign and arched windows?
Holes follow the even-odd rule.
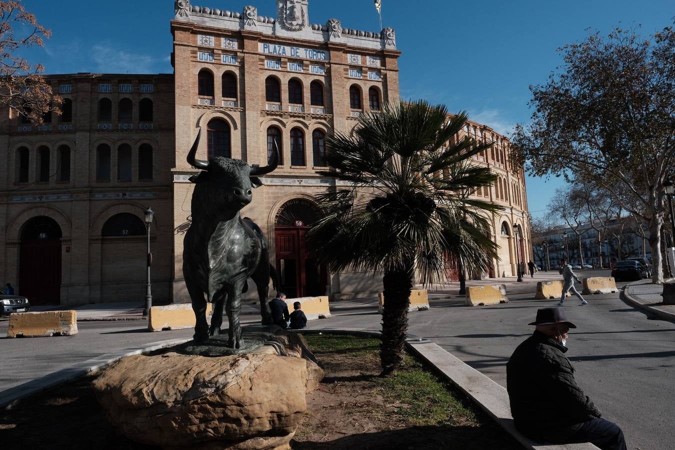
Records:
[[[305,235],[317,194],[334,183],[317,175],[325,136],[350,132],[361,114],[399,98],[396,32],[313,24],[308,0],[276,3],[272,18],[253,6],[175,1],[173,74],[48,76],[63,111],[38,127],[0,109],[3,284],[35,305],[142,301],[149,206],[153,298],[189,301],[182,252],[195,169],[186,157],[202,130],[198,159],[267,165],[272,143],[281,149],[242,215],[267,235],[289,298],[381,289],[377,277],[329,273],[306,251]],[[531,248],[522,167],[489,126],[470,122],[462,134],[495,142],[475,163],[499,179],[475,195],[504,207],[490,230],[500,258],[474,275],[515,275]]]

